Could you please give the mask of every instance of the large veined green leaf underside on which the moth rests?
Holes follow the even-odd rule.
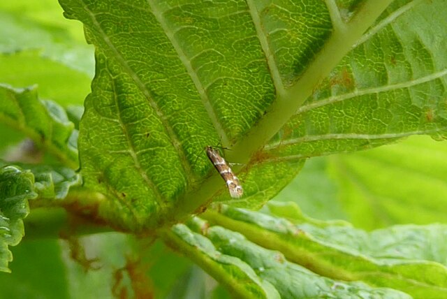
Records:
[[[258,207],[309,156],[444,137],[442,0],[60,2],[96,46],[82,172],[122,228],[228,201],[206,145]]]

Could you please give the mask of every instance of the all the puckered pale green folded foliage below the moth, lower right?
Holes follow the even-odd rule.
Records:
[[[223,207],[164,239],[237,298],[445,298],[445,225],[366,233],[270,207],[287,219]]]

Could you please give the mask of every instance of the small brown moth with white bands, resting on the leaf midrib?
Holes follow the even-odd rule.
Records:
[[[230,191],[230,196],[233,198],[240,198],[244,193],[242,186],[240,185],[239,179],[235,176],[233,171],[231,171],[230,166],[226,163],[225,159],[221,157],[219,152],[213,147],[206,147],[207,156],[214,165],[214,168],[219,171],[219,174],[225,180],[226,187]]]

